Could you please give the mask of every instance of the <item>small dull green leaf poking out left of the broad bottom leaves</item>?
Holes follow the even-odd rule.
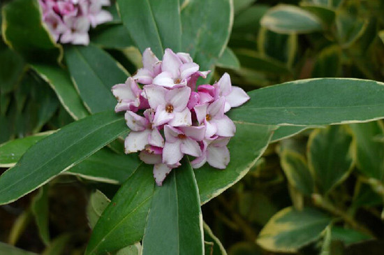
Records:
[[[98,189],[89,196],[89,202],[87,205],[87,218],[88,224],[91,229],[94,229],[98,219],[104,212],[105,208],[110,204],[110,199],[107,198]]]

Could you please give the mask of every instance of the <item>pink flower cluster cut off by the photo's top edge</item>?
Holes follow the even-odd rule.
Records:
[[[89,27],[112,20],[110,0],[39,0],[43,21],[60,43],[89,44]]]

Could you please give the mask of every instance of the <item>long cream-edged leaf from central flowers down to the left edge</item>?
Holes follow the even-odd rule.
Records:
[[[102,112],[40,140],[15,167],[0,176],[0,204],[13,202],[42,186],[127,131],[123,117]]]

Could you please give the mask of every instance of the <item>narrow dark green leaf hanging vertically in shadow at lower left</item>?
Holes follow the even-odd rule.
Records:
[[[31,202],[32,214],[34,214],[36,225],[38,227],[38,233],[44,244],[47,245],[50,242],[50,231],[48,228],[49,210],[48,210],[48,186],[44,185],[38,191],[38,194],[34,196]]]

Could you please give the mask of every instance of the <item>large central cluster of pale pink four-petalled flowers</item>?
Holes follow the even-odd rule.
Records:
[[[225,113],[249,96],[231,85],[228,73],[214,85],[200,85],[195,91],[198,78],[206,78],[209,71],[199,71],[184,52],[166,49],[159,61],[147,48],[142,63],[144,67],[133,77],[112,87],[119,101],[115,110],[126,111],[131,129],[125,140],[126,153],[140,152],[142,161],[154,164],[159,186],[172,168],[180,166],[184,154],[195,157],[193,168],[205,162],[226,168],[230,161],[227,144],[236,126]]]

